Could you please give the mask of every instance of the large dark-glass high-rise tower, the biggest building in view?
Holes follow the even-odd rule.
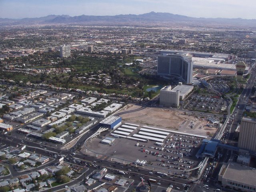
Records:
[[[180,78],[187,84],[192,83],[193,62],[190,54],[167,54],[158,56],[157,74]]]

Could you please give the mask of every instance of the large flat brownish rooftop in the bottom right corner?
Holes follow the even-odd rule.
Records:
[[[256,169],[238,163],[230,163],[223,174],[223,178],[255,186]]]

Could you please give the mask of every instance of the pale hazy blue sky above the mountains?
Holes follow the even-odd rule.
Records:
[[[256,19],[256,0],[0,0],[0,18],[50,14],[118,15],[168,12],[192,17]]]

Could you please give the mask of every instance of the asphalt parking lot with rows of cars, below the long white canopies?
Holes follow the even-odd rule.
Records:
[[[138,132],[138,130],[134,130],[134,132]],[[170,133],[162,144],[154,141],[140,142],[127,138],[115,138],[111,144],[102,144],[101,140],[106,137],[112,136],[107,134],[104,137],[93,138],[91,142],[86,144],[90,150],[98,152],[99,159],[112,159],[118,163],[123,163],[124,159],[125,164],[136,162],[137,166],[148,170],[152,170],[152,166],[154,166],[155,171],[184,178],[188,178],[184,170],[189,170],[198,164],[195,154],[203,140],[203,137],[199,136]],[[86,152],[85,148],[82,148],[82,152],[96,156],[89,150]],[[112,156],[112,158],[108,156]],[[132,164],[135,166],[135,163]]]

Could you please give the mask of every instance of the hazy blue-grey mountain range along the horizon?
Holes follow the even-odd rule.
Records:
[[[193,25],[238,25],[238,26],[256,26],[256,19],[242,18],[194,18],[171,13],[150,12],[146,14],[134,15],[115,15],[115,16],[68,16],[68,15],[48,15],[40,18],[8,19],[0,18],[0,25],[16,24],[75,24],[75,23],[93,23],[93,24],[193,24]]]

